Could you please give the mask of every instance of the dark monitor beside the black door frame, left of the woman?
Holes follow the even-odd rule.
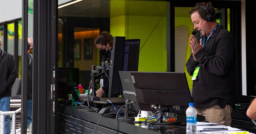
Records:
[[[67,100],[71,94],[68,86],[77,87],[79,84],[79,68],[58,67],[58,98]]]

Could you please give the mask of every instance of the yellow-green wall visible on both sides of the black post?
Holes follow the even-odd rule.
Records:
[[[113,2],[111,4],[117,3]],[[167,13],[162,15],[141,15],[140,12],[130,13],[127,12],[127,10],[131,11],[128,7],[126,7],[125,4],[127,3],[119,1],[119,4],[120,7],[122,7],[121,10],[116,8],[110,8],[110,12],[112,12],[112,14],[114,14],[113,12],[115,12],[116,10],[118,10],[120,14],[116,15],[115,13],[115,15],[112,15],[112,17],[110,17],[110,33],[113,36],[125,36],[126,39],[140,39],[141,42],[138,71],[167,71]],[[159,1],[159,4],[163,4],[163,2]],[[165,8],[161,10],[165,10],[164,12],[167,12],[166,8],[167,6],[165,6]],[[186,8],[186,10],[188,11],[190,9],[191,8]],[[187,13],[187,11],[185,12]],[[191,54],[191,49],[189,47],[188,42],[189,35],[191,35],[191,32],[193,31],[193,23],[191,22],[190,14],[187,14],[188,17],[175,17],[175,28],[180,26],[185,26],[188,28],[188,37],[186,38],[187,47],[184,49],[184,51],[186,51],[186,58],[184,60],[184,64],[186,63],[188,57]],[[189,88],[192,89],[192,77],[188,75],[186,66],[184,66],[184,72],[187,75]]]

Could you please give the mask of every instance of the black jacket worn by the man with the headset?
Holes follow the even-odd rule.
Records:
[[[200,37],[198,42],[200,43]],[[205,37],[207,38],[207,37]],[[200,63],[197,79],[193,81],[192,99],[195,108],[207,108],[218,104],[235,106],[236,91],[236,43],[231,33],[220,25],[210,36],[205,50],[191,54],[187,63],[189,75]]]

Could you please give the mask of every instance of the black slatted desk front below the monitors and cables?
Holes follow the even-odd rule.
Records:
[[[86,109],[73,109],[67,106],[62,106],[58,113],[58,133],[81,133],[92,134],[97,123],[101,119],[101,115],[95,112],[88,112]],[[64,113],[64,111],[67,111]],[[177,125],[177,126],[174,126]],[[117,121],[118,134],[159,134],[159,133],[172,133],[172,134],[186,134],[186,124],[174,124],[157,129],[148,129],[147,124],[133,122]],[[154,128],[154,126],[152,126]],[[116,133],[116,119],[104,117],[95,133],[115,134]],[[200,134],[200,132],[198,132]]]

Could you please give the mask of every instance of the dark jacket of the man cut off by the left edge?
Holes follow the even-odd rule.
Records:
[[[11,96],[16,79],[15,62],[12,55],[0,50],[0,99]]]

